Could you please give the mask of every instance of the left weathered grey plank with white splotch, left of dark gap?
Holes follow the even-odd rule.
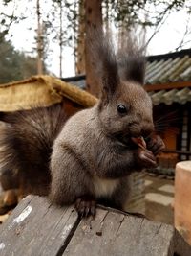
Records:
[[[46,198],[29,196],[2,225],[0,255],[59,255],[78,222],[74,207],[58,208]]]

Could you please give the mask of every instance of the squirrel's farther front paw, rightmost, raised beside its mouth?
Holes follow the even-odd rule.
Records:
[[[153,135],[148,139],[146,143],[147,149],[152,151],[154,155],[157,155],[160,151],[165,149],[165,145],[163,140],[159,137],[159,135]]]

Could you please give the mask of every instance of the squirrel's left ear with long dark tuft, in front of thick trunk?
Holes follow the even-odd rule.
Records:
[[[117,58],[110,36],[104,35],[102,28],[92,27],[87,33],[92,55],[92,67],[100,84],[102,98],[115,93],[119,83]]]

